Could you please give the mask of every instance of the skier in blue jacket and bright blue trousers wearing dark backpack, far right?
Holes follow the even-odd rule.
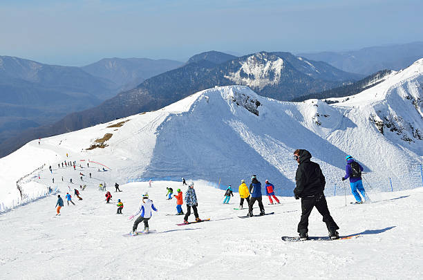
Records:
[[[363,196],[366,202],[370,201],[370,198],[367,196],[363,187],[363,182],[361,180],[361,171],[363,171],[363,167],[358,162],[356,162],[352,156],[346,156],[345,160],[347,162],[345,167],[346,174],[344,177],[342,177],[342,180],[344,181],[348,177],[350,178],[351,192],[353,193],[356,200],[355,204],[363,203],[359,192],[361,192],[361,196]],[[357,192],[357,189],[359,192]]]

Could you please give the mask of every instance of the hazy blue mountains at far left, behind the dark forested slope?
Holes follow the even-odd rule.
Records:
[[[82,68],[0,56],[0,144],[28,128],[97,106],[182,65],[168,59],[102,59]]]

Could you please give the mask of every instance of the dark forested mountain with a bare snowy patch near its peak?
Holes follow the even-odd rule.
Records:
[[[25,131],[19,137],[3,142],[0,155],[4,156],[34,138],[157,110],[214,86],[247,85],[263,96],[292,100],[294,97],[351,84],[363,77],[340,71],[325,62],[314,62],[282,52],[263,51],[234,57],[212,51],[195,55],[189,62],[180,68],[151,77],[137,88],[119,93],[92,109],[71,113],[55,124]]]

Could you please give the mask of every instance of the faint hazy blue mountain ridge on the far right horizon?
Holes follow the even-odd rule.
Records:
[[[345,52],[299,53],[299,56],[327,62],[346,72],[370,75],[384,69],[398,71],[407,68],[423,57],[423,42],[373,46]]]

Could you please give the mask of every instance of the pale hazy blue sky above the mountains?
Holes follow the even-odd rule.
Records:
[[[421,0],[1,0],[0,55],[82,66],[423,41]]]

